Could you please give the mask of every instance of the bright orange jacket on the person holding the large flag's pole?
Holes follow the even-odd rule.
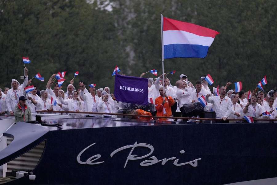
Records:
[[[172,99],[172,97],[168,97],[168,99],[165,97],[165,104],[162,105],[163,103],[163,97],[162,96],[159,96],[158,98],[156,98],[155,100],[155,107],[156,107],[156,110],[157,110],[157,116],[167,116],[167,117],[170,117],[172,116],[172,113],[171,113],[171,106],[175,104],[175,100]],[[163,108],[165,109],[165,114],[163,113]],[[159,118],[159,120],[164,120],[166,121],[167,119],[166,118]]]

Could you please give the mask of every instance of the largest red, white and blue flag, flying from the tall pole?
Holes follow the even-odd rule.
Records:
[[[206,27],[163,17],[164,59],[205,58],[217,34]]]

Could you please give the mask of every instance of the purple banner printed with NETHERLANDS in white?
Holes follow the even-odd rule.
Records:
[[[148,104],[148,79],[115,74],[114,96],[117,101]]]

